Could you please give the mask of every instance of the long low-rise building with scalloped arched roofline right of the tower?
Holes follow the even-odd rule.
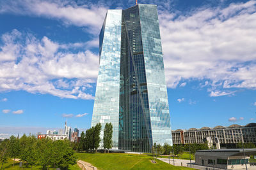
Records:
[[[243,134],[243,136],[241,136]],[[212,143],[220,142],[220,146],[236,145],[236,143],[256,144],[256,123],[247,125],[230,125],[223,127],[218,125],[214,128],[202,127],[201,129],[190,128],[187,130],[177,129],[172,131],[173,144],[204,143],[207,137],[212,138]]]

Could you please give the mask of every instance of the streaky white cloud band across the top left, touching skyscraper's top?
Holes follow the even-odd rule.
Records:
[[[106,11],[103,6],[77,6],[69,1],[17,0],[2,1],[0,4],[0,13],[54,18],[67,25],[86,27],[86,31],[93,34],[99,34]]]

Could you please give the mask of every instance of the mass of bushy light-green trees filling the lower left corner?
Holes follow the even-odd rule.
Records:
[[[20,159],[26,164],[26,167],[31,166],[31,169],[35,165],[40,165],[43,168],[67,169],[68,165],[74,165],[77,161],[70,141],[52,141],[49,138],[36,139],[35,136],[26,136],[25,134],[20,139],[11,136],[10,139],[4,139],[0,143],[1,169],[8,158],[13,158],[13,166],[15,159]]]

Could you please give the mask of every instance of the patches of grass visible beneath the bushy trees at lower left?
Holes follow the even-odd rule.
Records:
[[[13,160],[9,159],[7,163],[4,163],[3,165],[3,169],[12,169],[12,170],[23,170],[23,169],[31,169],[31,166],[26,167],[26,165],[24,165],[24,167],[19,167],[19,162],[15,163],[14,166],[12,166],[13,164]],[[1,168],[1,165],[0,165]],[[33,166],[32,169],[40,169],[42,170],[42,166]],[[56,170],[56,168],[49,168],[49,170]],[[68,170],[81,170],[81,168],[79,166],[74,165],[74,166],[69,166]]]

